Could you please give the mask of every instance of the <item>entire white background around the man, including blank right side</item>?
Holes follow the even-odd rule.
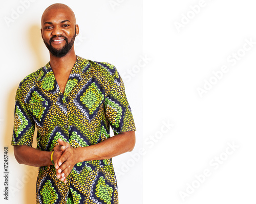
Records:
[[[31,3],[10,27],[3,17],[20,3],[3,2],[0,125],[3,146],[10,147],[10,185],[15,185],[29,168],[15,163],[11,151],[13,99],[19,81],[48,61],[39,21],[54,1]],[[141,160],[120,176],[120,203],[142,203],[142,190],[143,203],[255,203],[254,1],[143,1],[143,52],[140,1],[113,1],[119,4],[114,10],[107,0],[73,2],[65,3],[87,37],[76,47],[78,55],[111,62],[121,75],[135,71],[140,55],[151,58],[124,80],[137,144],[131,154],[115,158],[116,170],[140,148],[144,156],[143,183]],[[217,79],[214,73],[223,66],[226,72]],[[199,88],[205,90],[202,97]],[[163,129],[169,123],[172,127]],[[34,188],[33,179],[9,202],[33,203],[28,185]]]

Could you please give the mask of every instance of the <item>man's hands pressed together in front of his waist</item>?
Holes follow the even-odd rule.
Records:
[[[76,150],[68,142],[60,138],[58,139],[58,143],[54,148],[53,161],[57,178],[66,184],[67,176],[77,163]]]

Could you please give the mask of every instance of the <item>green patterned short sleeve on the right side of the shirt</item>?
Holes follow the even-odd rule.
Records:
[[[113,85],[105,98],[105,115],[108,118],[110,125],[115,135],[136,131],[134,118],[131,107],[127,101],[123,81],[114,67]]]

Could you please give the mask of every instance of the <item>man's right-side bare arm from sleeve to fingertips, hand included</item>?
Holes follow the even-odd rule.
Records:
[[[61,139],[58,139],[58,143],[60,145],[56,149],[63,151],[63,154],[55,162],[56,176],[67,183],[67,176],[78,162],[109,159],[124,152],[132,151],[135,145],[135,132],[123,132],[86,147],[69,148],[70,144],[63,142]]]

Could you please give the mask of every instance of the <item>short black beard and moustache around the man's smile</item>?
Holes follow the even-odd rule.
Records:
[[[66,44],[60,49],[54,48],[52,46],[52,41],[53,41],[53,38],[55,38],[55,37],[64,38],[64,40],[66,41]],[[51,37],[51,39],[49,40],[49,44],[44,39],[43,40],[44,40],[44,43],[45,43],[46,47],[49,49],[50,53],[53,56],[58,57],[58,58],[62,58],[62,57],[64,57],[65,55],[67,55],[69,53],[70,49],[72,48],[72,46],[74,44],[75,38],[76,38],[76,31],[75,31],[75,35],[72,37],[70,42],[68,41],[67,37],[62,36],[62,35]]]

